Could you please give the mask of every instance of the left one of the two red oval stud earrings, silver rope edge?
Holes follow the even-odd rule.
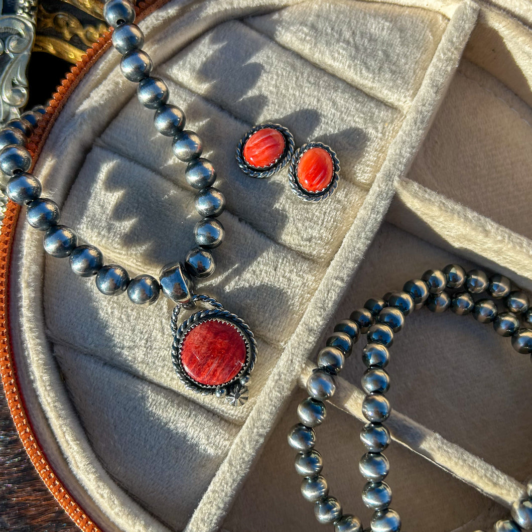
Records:
[[[284,168],[294,154],[294,137],[279,124],[265,123],[250,129],[238,143],[236,160],[248,176],[270,177]]]

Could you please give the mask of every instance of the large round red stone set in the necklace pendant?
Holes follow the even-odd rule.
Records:
[[[181,344],[181,365],[198,383],[217,386],[235,378],[246,362],[246,343],[225,321],[206,320],[190,329]]]

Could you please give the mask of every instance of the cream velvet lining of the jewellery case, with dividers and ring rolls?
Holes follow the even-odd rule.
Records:
[[[295,418],[294,398],[276,422],[297,381],[308,371],[305,361],[332,318],[344,317],[353,302],[384,293],[425,268],[462,261],[425,240],[471,261],[493,268],[500,265],[496,268],[531,286],[530,241],[474,211],[525,236],[530,236],[526,232],[530,215],[512,220],[510,208],[500,206],[500,195],[483,194],[477,204],[475,195],[467,196],[460,188],[463,183],[465,192],[472,186],[484,192],[483,177],[486,170],[496,171],[493,164],[479,168],[472,163],[463,174],[442,164],[454,162],[458,147],[464,156],[493,153],[495,137],[486,144],[484,131],[489,131],[489,119],[493,122],[501,113],[488,94],[505,103],[505,111],[519,107],[529,113],[523,101],[470,63],[462,62],[453,78],[476,17],[477,8],[470,3],[441,3],[429,10],[347,0],[174,0],[142,23],[155,72],[168,82],[172,103],[185,110],[188,127],[204,139],[206,155],[218,170],[218,185],[227,198],[228,211],[221,219],[228,238],[216,252],[217,272],[200,291],[242,315],[255,331],[260,351],[252,395],[244,408],[234,410],[186,392],[170,363],[171,306],[161,300],[137,309],[126,297],[105,298],[93,281],[74,278],[67,261],[44,260],[40,235],[21,223],[11,277],[13,291],[21,296],[11,308],[11,327],[24,397],[59,477],[105,530],[214,530],[224,519],[223,526],[231,532],[318,529],[298,494],[293,453],[285,444],[286,430]],[[119,74],[118,59],[115,52],[107,53],[71,96],[47,140],[37,172],[45,191],[62,205],[64,223],[100,247],[109,262],[124,264],[132,273],[156,274],[162,264],[184,256],[192,244],[194,194],[183,184],[184,165],[172,157],[169,139],[156,134],[151,113],[140,109],[134,98],[134,84]],[[471,85],[475,77],[491,84],[489,90]],[[478,94],[471,93],[473,87]],[[458,119],[451,111],[460,105],[464,112],[470,110],[468,97],[489,111],[484,129],[471,126],[480,132],[480,144],[466,150],[471,131],[465,132],[466,142],[453,145],[460,137],[457,140],[452,130]],[[334,198],[319,206],[303,204],[289,192],[286,170],[264,181],[238,170],[234,160],[238,139],[252,124],[266,120],[290,128],[298,144],[319,139],[337,151],[342,182]],[[410,179],[402,180],[433,120]],[[512,112],[504,115],[503,123],[508,138],[526,142],[519,139],[528,129]],[[516,124],[522,130],[515,129]],[[440,146],[447,159],[434,157]],[[504,156],[504,151],[499,152],[502,166]],[[503,189],[514,180],[523,182],[521,176],[532,167],[527,157],[522,155],[519,167],[512,166],[501,176]],[[505,185],[502,178],[507,179]],[[388,219],[402,229],[385,224],[368,251],[396,189]],[[519,191],[527,193],[524,186]],[[472,211],[453,200],[468,204]],[[431,225],[435,219],[447,223]],[[457,237],[464,220],[466,230]],[[501,245],[490,247],[492,240],[487,237],[494,235]],[[394,261],[388,259],[392,256]],[[434,326],[437,338],[443,341],[448,330],[456,330],[453,319],[443,317]],[[428,324],[435,318],[420,315],[415,320],[433,327]],[[447,322],[448,328],[441,325]],[[497,426],[487,422],[490,415],[478,419],[473,415],[478,413],[473,405],[480,408],[491,394],[486,397],[484,385],[471,387],[467,369],[460,373],[461,379],[454,374],[453,381],[446,375],[440,383],[440,370],[453,360],[452,353],[438,353],[442,355],[438,364],[433,353],[437,340],[421,335],[420,341],[414,326],[412,333],[410,326],[405,331],[403,347],[397,347],[397,360],[408,359],[408,364],[394,366],[393,373],[415,393],[397,385],[392,400],[398,411],[414,420],[425,419],[426,390],[437,376],[442,392],[431,396],[437,402],[430,419],[438,422],[430,429],[506,471],[509,477],[500,477],[506,480],[498,491],[493,485],[498,474],[494,467],[483,477],[481,464],[464,465],[462,476],[467,469],[470,484],[508,504],[522,489],[511,477],[524,480],[529,462],[517,448],[531,436],[525,424],[526,405],[532,400],[526,385],[529,361],[517,359],[508,343],[501,347],[492,331],[485,331],[485,340],[479,332],[471,336],[477,324],[464,323],[458,326],[458,345],[453,349],[462,350],[460,343],[466,343],[464,353],[469,349],[478,353],[481,342],[484,352],[473,356],[465,368],[477,372],[480,354],[489,359],[478,372],[486,380],[495,379],[497,394],[492,399],[501,394],[504,400],[488,412],[497,422],[511,420],[516,431],[512,434],[518,434],[514,447],[509,435],[500,446],[490,445],[488,435],[480,438],[479,450],[468,447],[471,426],[478,433],[485,425]],[[409,345],[417,345],[410,358]],[[498,354],[501,348],[508,352],[504,360]],[[408,377],[427,362],[427,353],[431,356],[425,380],[414,385]],[[356,397],[358,392],[349,386],[358,383],[361,363],[353,356],[350,364],[344,377],[351,384],[346,389]],[[497,380],[501,374],[506,377],[502,384]],[[453,409],[463,408],[453,403],[460,395],[454,395],[456,382],[459,390],[475,392],[464,409],[471,415],[463,419],[453,414]],[[345,394],[344,390],[339,395],[340,401]],[[418,396],[423,397],[420,404]],[[447,403],[440,421],[438,414]],[[347,411],[358,414],[353,407]],[[345,467],[352,443],[358,442],[360,424],[333,408],[329,412],[325,436],[320,435],[325,458],[332,462],[326,475],[332,473],[334,494],[344,498],[350,511],[367,514],[361,510],[360,497],[353,496],[359,491],[358,484],[353,490],[353,479],[360,483],[354,469],[362,451],[351,459],[352,467]],[[401,428],[394,436],[408,440]],[[450,459],[453,452],[460,452],[436,436],[435,441],[441,444],[442,457],[449,450]],[[423,448],[410,443],[410,448],[427,456]],[[510,450],[510,458],[504,450]],[[343,458],[336,465],[335,452]],[[405,528],[451,530],[467,520],[480,523],[502,514],[500,506],[418,455],[396,446],[388,455],[395,468],[390,473],[394,506]],[[431,459],[438,462],[437,456]],[[258,460],[255,465],[254,460]],[[458,460],[455,475],[460,476],[461,467]],[[414,493],[438,488],[431,501],[414,504],[412,485]],[[436,513],[435,504],[441,504],[442,498],[453,508],[445,516]],[[438,520],[431,521],[435,513]]]

